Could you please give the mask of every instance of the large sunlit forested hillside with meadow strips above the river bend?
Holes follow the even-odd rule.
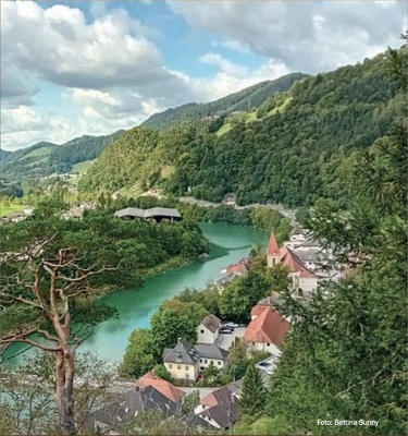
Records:
[[[84,191],[139,183],[175,195],[239,204],[347,202],[344,173],[355,152],[385,135],[406,110],[384,55],[297,81],[257,110],[168,132],[135,128],[109,146],[83,178]],[[214,132],[214,133],[212,133]]]

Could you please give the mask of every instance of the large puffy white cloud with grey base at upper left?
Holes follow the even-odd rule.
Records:
[[[1,61],[21,74],[28,71],[32,77],[74,88],[128,86],[148,93],[159,83],[170,96],[186,90],[163,68],[160,51],[143,36],[143,24],[124,10],[90,24],[81,10],[66,5],[2,2],[1,12]],[[10,89],[9,83],[2,89]]]

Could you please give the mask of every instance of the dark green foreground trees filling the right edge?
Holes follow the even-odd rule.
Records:
[[[391,50],[387,62],[406,98],[407,52]],[[307,220],[336,259],[358,255],[309,304],[286,295],[277,305],[296,323],[263,410],[243,416],[236,433],[407,434],[407,158],[405,114],[356,153],[344,174],[347,211],[320,201]],[[335,419],[378,425],[319,424]]]

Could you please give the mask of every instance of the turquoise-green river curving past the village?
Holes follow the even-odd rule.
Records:
[[[265,246],[269,238],[267,232],[249,227],[222,223],[201,223],[200,227],[210,242],[211,257],[150,277],[139,291],[118,291],[103,296],[106,303],[118,308],[119,318],[99,324],[81,346],[83,352],[92,351],[111,363],[120,362],[131,332],[149,327],[151,315],[164,300],[185,288],[203,288],[221,269],[247,256],[254,244]],[[16,354],[22,346],[12,346],[4,358]],[[18,364],[24,354],[4,363]]]

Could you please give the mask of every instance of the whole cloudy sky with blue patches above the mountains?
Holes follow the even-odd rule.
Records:
[[[401,45],[405,1],[1,1],[1,147],[138,125]]]

